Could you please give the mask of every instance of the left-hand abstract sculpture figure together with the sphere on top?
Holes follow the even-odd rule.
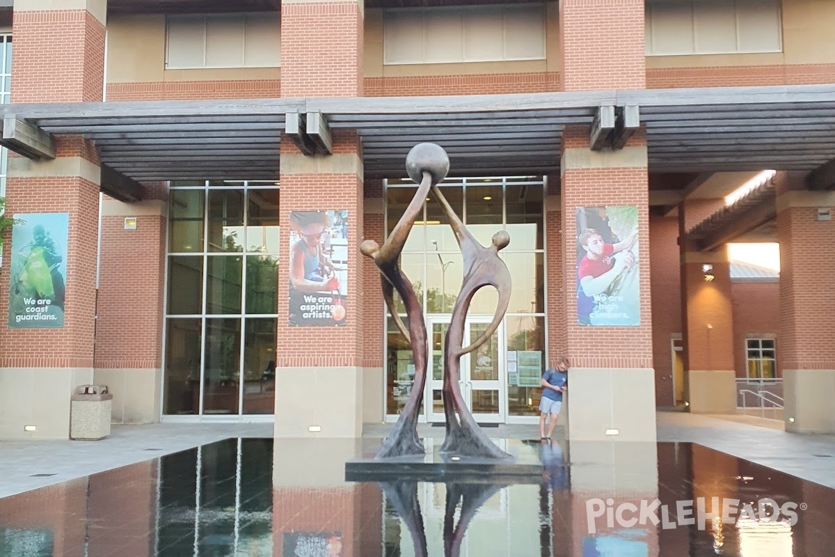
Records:
[[[434,144],[418,144],[409,153],[407,170],[419,187],[403,212],[392,233],[378,246],[376,241],[366,240],[360,245],[362,254],[371,257],[380,270],[382,282],[382,296],[386,301],[388,311],[392,314],[397,328],[407,338],[412,347],[412,358],[415,365],[415,377],[412,391],[406,404],[394,424],[375,458],[402,457],[414,454],[424,454],[420,438],[417,437],[417,415],[423,402],[423,387],[426,384],[427,369],[427,334],[423,309],[417,300],[412,282],[400,270],[399,259],[403,246],[412,230],[417,215],[423,211],[423,200],[426,199],[430,188],[443,180],[449,170],[449,159],[443,149]],[[411,166],[409,165],[411,163]],[[418,170],[419,168],[419,170]],[[405,327],[397,313],[394,304],[394,291],[400,294],[409,326]]]

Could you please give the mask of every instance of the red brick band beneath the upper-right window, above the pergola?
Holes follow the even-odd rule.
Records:
[[[646,70],[647,89],[831,84],[833,81],[835,81],[835,64],[832,63],[650,68]]]

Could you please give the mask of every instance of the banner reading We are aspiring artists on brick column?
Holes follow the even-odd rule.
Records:
[[[289,247],[290,324],[345,325],[348,211],[291,211]]]

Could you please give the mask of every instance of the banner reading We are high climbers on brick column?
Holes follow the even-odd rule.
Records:
[[[638,207],[577,208],[577,324],[640,325]]]

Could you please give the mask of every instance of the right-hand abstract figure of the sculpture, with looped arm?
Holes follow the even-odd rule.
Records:
[[[461,291],[453,306],[452,321],[444,340],[443,412],[447,418],[447,437],[441,445],[440,452],[479,458],[513,458],[490,441],[490,438],[478,426],[473,414],[467,408],[458,383],[461,377],[461,357],[488,341],[498,329],[504,312],[508,309],[510,271],[498,256],[498,251],[508,246],[510,236],[504,230],[500,230],[493,235],[493,242],[489,247],[482,246],[458,219],[458,215],[449,206],[437,185],[433,185],[432,193],[441,204],[453,228],[455,239],[461,247],[464,266]],[[493,286],[498,291],[498,304],[493,314],[493,321],[480,337],[468,347],[462,347],[470,301],[473,300],[476,291],[483,286]]]

